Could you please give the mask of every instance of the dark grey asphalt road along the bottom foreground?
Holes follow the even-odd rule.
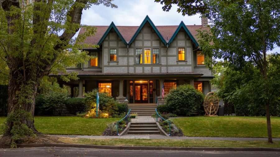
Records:
[[[106,150],[106,149],[86,149],[86,148],[55,148],[55,147],[37,147],[37,148],[17,148],[0,149],[0,157],[87,157],[87,156],[114,156],[114,157],[181,157],[181,156],[264,156],[280,157],[280,152],[264,151],[167,151],[167,150]]]

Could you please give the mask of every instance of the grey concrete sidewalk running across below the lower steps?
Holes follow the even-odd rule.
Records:
[[[89,138],[89,139],[174,139],[174,140],[227,140],[227,141],[266,141],[267,138],[249,137],[167,137],[163,135],[127,135],[127,136],[81,136],[81,135],[50,135],[56,137]],[[280,141],[280,138],[273,138]]]

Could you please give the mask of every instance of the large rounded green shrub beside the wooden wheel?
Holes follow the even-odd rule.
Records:
[[[190,116],[198,111],[203,104],[203,94],[189,84],[171,89],[165,97],[168,112]]]

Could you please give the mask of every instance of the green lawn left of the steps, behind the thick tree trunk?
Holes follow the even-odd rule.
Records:
[[[0,117],[0,129],[5,117]],[[81,117],[35,117],[35,128],[45,134],[59,135],[101,135],[107,123],[120,118],[86,119]],[[2,126],[1,126],[2,124]],[[3,134],[2,129],[0,134]]]

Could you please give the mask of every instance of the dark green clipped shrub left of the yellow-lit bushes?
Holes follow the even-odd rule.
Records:
[[[86,109],[84,98],[69,98],[66,100],[65,105],[71,114],[84,112]]]

